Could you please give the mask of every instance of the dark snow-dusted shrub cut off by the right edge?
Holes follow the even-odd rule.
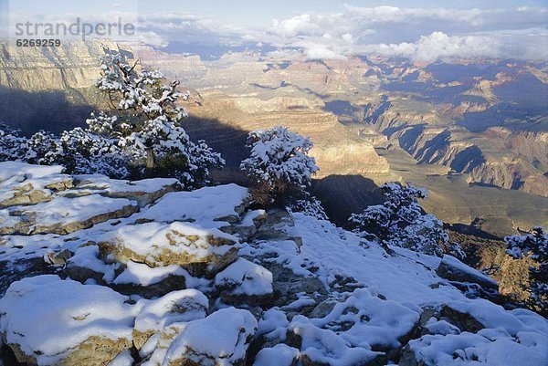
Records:
[[[528,235],[511,235],[504,238],[506,253],[512,258],[531,256],[536,263],[529,268],[529,288],[533,308],[545,315],[548,311],[548,234],[535,227]]]

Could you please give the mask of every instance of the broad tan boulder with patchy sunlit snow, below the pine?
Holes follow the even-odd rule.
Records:
[[[237,259],[237,238],[218,229],[174,222],[125,225],[99,241],[100,256],[149,267],[177,265],[194,276],[213,277]]]

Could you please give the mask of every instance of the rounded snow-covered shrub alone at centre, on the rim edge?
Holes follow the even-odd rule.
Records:
[[[285,127],[252,131],[248,136],[251,153],[240,164],[253,184],[253,198],[259,204],[285,200],[291,191],[302,191],[318,171],[308,156],[312,142]]]

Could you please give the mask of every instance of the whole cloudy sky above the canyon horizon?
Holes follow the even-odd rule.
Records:
[[[2,9],[9,31],[21,21],[121,18],[137,26],[133,40],[156,47],[268,45],[311,59],[548,59],[548,0],[0,0]]]

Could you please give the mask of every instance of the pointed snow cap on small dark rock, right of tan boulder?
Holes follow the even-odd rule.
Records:
[[[216,274],[217,288],[233,288],[234,295],[266,295],[272,293],[272,274],[265,267],[238,258]]]

